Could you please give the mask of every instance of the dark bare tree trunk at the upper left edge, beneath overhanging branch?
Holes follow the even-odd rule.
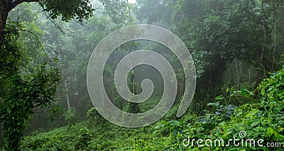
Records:
[[[9,4],[7,1],[0,1],[0,51],[4,40],[4,29],[9,13]]]

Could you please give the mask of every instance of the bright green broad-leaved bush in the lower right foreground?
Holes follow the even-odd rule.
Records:
[[[228,142],[231,138],[241,139],[240,134],[245,132],[244,141],[247,139],[263,140],[262,145],[248,145],[236,147],[200,147],[197,144],[187,147],[188,149],[200,150],[283,150],[284,144],[284,69],[263,80],[258,89],[263,95],[261,102],[257,104],[244,104],[237,108],[234,106],[222,106],[217,103],[208,104],[214,106],[214,113],[207,113],[195,123],[180,125],[185,130],[180,133],[180,137],[192,139],[209,138],[211,140],[223,139]],[[243,96],[252,94],[250,91],[239,91]],[[216,98],[222,101],[224,98]],[[185,132],[185,135],[184,135]],[[175,131],[173,131],[175,133]],[[267,142],[280,142],[281,147],[265,147]]]

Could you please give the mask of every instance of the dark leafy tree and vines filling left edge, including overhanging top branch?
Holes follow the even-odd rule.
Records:
[[[9,11],[23,2],[27,1],[0,2],[0,80],[3,84],[0,122],[3,123],[6,150],[19,150],[27,121],[33,117],[33,108],[53,108],[50,106],[61,79],[59,69],[47,63],[58,63],[56,57],[54,60],[40,60],[38,63],[38,55],[31,55],[32,52],[43,54],[40,51],[44,50],[38,39],[42,35],[36,33],[38,26],[18,20],[7,22]],[[40,3],[53,19],[61,15],[62,21],[70,21],[77,16],[77,20],[82,22],[83,18],[92,16],[93,9],[88,5],[89,1],[72,1],[69,5],[65,4],[65,1],[36,2]],[[33,31],[28,30],[30,27],[26,26],[34,28]],[[36,42],[25,39],[21,32],[30,33]],[[34,45],[37,45],[37,49]]]

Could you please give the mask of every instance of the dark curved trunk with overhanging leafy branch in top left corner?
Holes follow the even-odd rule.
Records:
[[[62,21],[70,21],[75,18],[77,21],[82,22],[92,16],[94,9],[89,0],[3,0],[0,1],[0,47],[4,39],[5,26],[9,12],[19,4],[25,2],[36,2],[40,4],[43,11],[47,13],[48,18],[58,18],[61,16]]]

